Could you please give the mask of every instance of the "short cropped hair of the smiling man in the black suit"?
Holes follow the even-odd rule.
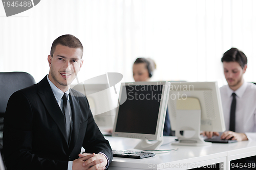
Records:
[[[66,35],[59,36],[53,41],[51,52],[50,52],[52,57],[53,57],[53,53],[55,52],[55,48],[58,44],[63,46],[68,46],[70,48],[80,48],[81,53],[83,54],[83,46],[80,40],[76,38],[74,35],[66,34]],[[82,54],[81,54],[81,58],[82,58]]]

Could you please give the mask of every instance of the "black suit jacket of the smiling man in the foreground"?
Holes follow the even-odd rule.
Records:
[[[4,119],[4,157],[11,169],[67,169],[68,161],[87,153],[104,153],[112,161],[112,150],[94,122],[86,96],[70,89],[73,116],[71,142],[66,139],[65,117],[47,77],[16,91],[8,101]]]

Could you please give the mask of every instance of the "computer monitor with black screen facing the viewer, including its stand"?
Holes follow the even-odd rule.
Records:
[[[112,136],[142,139],[135,149],[158,149],[163,142],[169,82],[122,83]],[[156,140],[150,142],[148,140]]]

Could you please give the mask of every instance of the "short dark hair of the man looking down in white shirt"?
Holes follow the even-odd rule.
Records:
[[[247,64],[247,57],[245,54],[238,50],[238,48],[230,48],[228,51],[226,51],[223,54],[223,57],[221,58],[221,62],[231,62],[236,61],[239,63],[239,65],[244,68],[245,64]]]

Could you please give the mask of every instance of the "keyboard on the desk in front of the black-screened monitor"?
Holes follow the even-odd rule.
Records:
[[[155,153],[150,152],[138,152],[138,151],[113,151],[113,157],[122,157],[122,158],[135,158],[135,159],[141,159],[141,158],[147,158],[155,156]]]

